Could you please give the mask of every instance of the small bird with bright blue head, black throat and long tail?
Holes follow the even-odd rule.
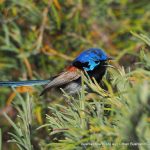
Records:
[[[0,86],[34,86],[45,85],[40,95],[43,95],[51,88],[62,88],[68,94],[74,94],[81,90],[81,72],[86,71],[90,78],[95,78],[99,83],[106,72],[108,60],[107,54],[99,48],[90,48],[83,51],[71,63],[66,70],[49,80],[29,80],[29,81],[0,81]]]

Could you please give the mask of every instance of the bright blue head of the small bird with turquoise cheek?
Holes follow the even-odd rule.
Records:
[[[90,48],[83,51],[72,64],[78,68],[83,68],[85,71],[92,71],[100,63],[108,59],[109,57],[102,49]]]

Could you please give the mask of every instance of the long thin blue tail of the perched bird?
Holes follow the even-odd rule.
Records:
[[[28,81],[0,81],[0,87],[18,87],[18,86],[35,86],[35,85],[45,85],[50,80],[28,80]]]

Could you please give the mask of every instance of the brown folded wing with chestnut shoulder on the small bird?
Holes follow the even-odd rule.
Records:
[[[62,72],[57,77],[55,77],[52,81],[50,81],[42,91],[41,95],[47,91],[47,89],[53,88],[53,87],[59,87],[62,85],[65,85],[73,80],[76,80],[81,77],[81,72],[78,69],[74,70],[67,70],[65,72]]]

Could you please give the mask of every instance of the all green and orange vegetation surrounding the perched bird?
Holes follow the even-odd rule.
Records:
[[[0,80],[47,79],[89,47],[116,58],[108,91],[83,77],[97,94],[0,88],[0,147],[150,149],[149,20],[148,0],[0,0]]]

